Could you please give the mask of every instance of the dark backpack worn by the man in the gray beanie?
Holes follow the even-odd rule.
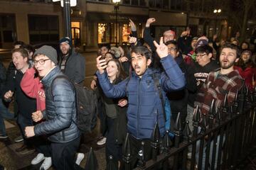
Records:
[[[68,77],[60,75],[55,79]],[[54,81],[54,79],[53,79]],[[70,81],[68,79],[68,81]],[[81,132],[92,132],[97,124],[97,96],[95,91],[70,81],[75,89],[77,121],[73,121]]]

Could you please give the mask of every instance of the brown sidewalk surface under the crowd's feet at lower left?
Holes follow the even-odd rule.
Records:
[[[14,121],[5,121],[6,130],[9,135],[6,139],[0,140],[0,164],[6,167],[8,170],[16,170],[16,169],[39,169],[41,163],[32,166],[31,160],[36,157],[36,151],[31,154],[20,154],[15,152],[17,147],[20,147],[23,142],[14,142],[14,139],[20,135],[18,127]],[[94,149],[95,155],[97,157],[97,161],[100,169],[104,170],[106,166],[105,162],[105,146],[97,146],[97,137],[99,135],[99,123],[95,130],[91,134],[84,135],[81,137],[81,145],[79,152],[85,154],[85,158],[82,160],[80,166],[82,168],[85,167],[87,154],[90,150],[90,147]],[[83,138],[83,139],[82,139]],[[53,167],[50,168],[50,170]]]

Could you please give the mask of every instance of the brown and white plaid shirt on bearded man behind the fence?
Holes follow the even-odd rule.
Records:
[[[223,106],[225,94],[228,94],[228,104],[233,102],[235,93],[242,86],[242,77],[237,70],[229,74],[220,74],[220,71],[210,72],[206,82],[198,91],[195,106],[201,108],[201,113],[208,114],[210,103],[215,99],[215,108]]]

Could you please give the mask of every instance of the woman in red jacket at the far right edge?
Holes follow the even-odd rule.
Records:
[[[252,52],[245,50],[242,52],[240,59],[235,64],[240,76],[245,79],[245,85],[252,89],[255,88],[256,65],[252,62]]]

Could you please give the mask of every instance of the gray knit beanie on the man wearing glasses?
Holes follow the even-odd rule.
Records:
[[[46,55],[46,57],[48,57],[52,62],[54,62],[54,64],[58,64],[57,51],[53,47],[49,45],[43,45],[42,47],[38,48],[38,50],[36,50],[34,56],[38,54]]]

